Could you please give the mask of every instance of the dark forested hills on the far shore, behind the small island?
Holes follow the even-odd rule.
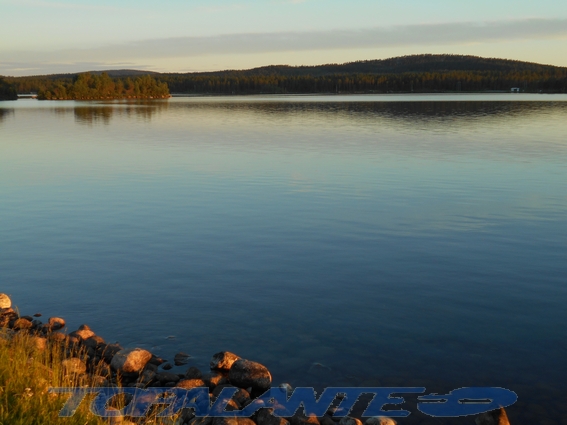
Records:
[[[170,92],[186,94],[392,93],[506,91],[567,92],[567,68],[461,55],[413,55],[317,66],[271,65],[193,73],[106,71],[112,77],[152,75]],[[100,74],[93,72],[92,74]],[[17,77],[18,92],[49,90],[77,74]]]

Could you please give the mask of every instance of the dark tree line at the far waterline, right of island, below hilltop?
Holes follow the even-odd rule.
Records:
[[[258,94],[258,93],[396,93],[507,91],[567,92],[567,70],[448,71],[402,74],[332,75],[225,75],[162,74],[172,93]]]

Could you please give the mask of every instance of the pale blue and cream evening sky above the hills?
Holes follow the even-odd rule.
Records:
[[[424,53],[567,66],[560,0],[0,0],[0,75],[195,72]]]

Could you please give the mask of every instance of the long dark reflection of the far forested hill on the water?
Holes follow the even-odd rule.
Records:
[[[567,113],[567,102],[420,101],[420,102],[234,102],[184,104],[190,108],[253,112],[274,118],[290,114],[325,114],[349,120],[383,118],[400,124],[416,122],[462,123],[479,118],[510,120],[548,112]]]

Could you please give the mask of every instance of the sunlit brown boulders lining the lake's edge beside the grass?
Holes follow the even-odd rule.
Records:
[[[66,374],[76,376],[78,381],[91,382],[99,387],[136,388],[208,388],[211,400],[215,400],[224,388],[236,388],[226,410],[240,410],[254,398],[273,386],[268,368],[258,362],[221,351],[213,354],[210,370],[201,371],[189,367],[185,373],[172,373],[170,362],[142,348],[124,348],[120,344],[109,344],[96,335],[88,325],[81,325],[72,332],[65,332],[65,320],[50,317],[45,322],[41,314],[33,316],[18,314],[6,294],[0,294],[0,338],[9,339],[23,333],[29,335],[38,350],[57,345],[63,350],[61,367]],[[176,366],[188,364],[189,355],[177,353],[173,358]],[[84,379],[81,379],[83,377]],[[87,379],[88,378],[88,379]],[[288,394],[289,384],[280,384]],[[270,409],[261,409],[251,418],[195,417],[192,409],[183,409],[172,425],[362,425],[360,418],[333,417],[336,407],[331,407],[322,417],[306,416],[301,409],[288,418],[277,417]],[[140,423],[139,419],[115,417],[114,424],[130,425]],[[509,425],[504,409],[480,415],[476,425]],[[366,425],[395,425],[387,417],[373,417],[365,420]]]

